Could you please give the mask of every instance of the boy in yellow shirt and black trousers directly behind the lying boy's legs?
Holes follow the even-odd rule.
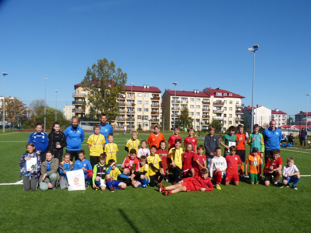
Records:
[[[175,148],[169,150],[169,156],[167,161],[170,162],[170,170],[173,171],[173,184],[177,184],[179,181],[179,176],[181,169],[183,167],[183,148],[180,148],[181,140],[179,138],[175,139]]]

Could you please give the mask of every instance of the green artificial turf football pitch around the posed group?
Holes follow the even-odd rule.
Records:
[[[18,164],[29,134],[0,133],[0,183],[21,180]],[[82,146],[86,151],[89,135]],[[139,134],[138,139],[148,135]],[[115,134],[118,164],[127,155],[127,139],[130,134]],[[295,158],[301,175],[311,175],[311,150],[282,148],[283,163],[289,156]],[[240,182],[238,187],[221,185],[221,190],[168,196],[151,187],[129,186],[114,193],[91,188],[25,192],[22,185],[0,185],[0,232],[310,232],[310,181],[302,176],[298,190]]]

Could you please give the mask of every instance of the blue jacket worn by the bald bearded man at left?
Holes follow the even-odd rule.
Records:
[[[67,150],[81,150],[81,144],[84,140],[84,131],[78,126],[77,129],[72,129],[69,126],[65,131],[64,135],[67,139]]]

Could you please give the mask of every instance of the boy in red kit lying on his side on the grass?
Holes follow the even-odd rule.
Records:
[[[163,192],[163,195],[179,193],[179,192],[189,192],[189,191],[211,191],[213,190],[213,184],[208,178],[207,168],[202,168],[200,170],[200,175],[188,177],[180,180],[176,185],[169,185],[167,187],[162,186],[161,183],[158,184],[158,191]]]

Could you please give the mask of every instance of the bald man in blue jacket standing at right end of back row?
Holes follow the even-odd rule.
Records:
[[[274,150],[280,149],[280,142],[282,140],[282,132],[276,128],[276,121],[270,121],[269,125],[270,127],[262,133],[265,143],[265,161],[268,158],[272,158]]]

